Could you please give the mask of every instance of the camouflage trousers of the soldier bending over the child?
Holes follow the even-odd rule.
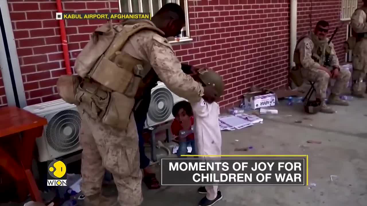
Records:
[[[139,139],[134,115],[130,115],[127,130],[121,131],[91,119],[81,109],[79,112],[82,117],[79,138],[83,149],[81,190],[86,196],[84,201],[88,206],[103,205],[103,197],[100,195],[107,169],[113,174],[120,205],[140,205],[142,173],[139,168]]]

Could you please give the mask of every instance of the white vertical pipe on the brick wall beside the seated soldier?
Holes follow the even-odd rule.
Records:
[[[297,0],[291,0],[291,10],[290,10],[290,68],[295,66],[293,61],[294,49],[297,43]]]

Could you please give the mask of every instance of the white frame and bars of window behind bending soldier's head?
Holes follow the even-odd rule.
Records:
[[[121,0],[118,0],[118,1],[119,1],[119,12],[122,12],[121,11]],[[138,1],[139,12],[143,12],[143,1],[142,0],[127,0],[128,12],[132,12],[132,1]],[[153,13],[153,1],[156,1],[156,0],[148,0],[148,2],[149,2],[149,12],[152,16],[154,15],[154,13]],[[166,0],[166,2],[167,3],[172,3],[172,0]],[[179,4],[180,1],[178,0],[177,2],[178,2],[178,5],[180,5]],[[174,40],[168,41],[171,44],[182,44],[182,43],[193,41],[193,38],[191,38],[191,36],[190,36],[188,0],[183,0],[183,2],[185,4],[184,5],[184,8],[185,8],[184,12],[185,12],[185,22],[186,22],[186,25],[185,25],[186,37],[180,37],[180,38],[170,37],[169,39],[174,38]],[[162,8],[162,1],[161,0],[158,1],[158,9],[160,9],[160,8]],[[181,31],[183,31],[183,29]]]

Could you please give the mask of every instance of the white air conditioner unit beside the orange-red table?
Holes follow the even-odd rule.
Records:
[[[26,106],[23,109],[47,119],[42,136],[36,139],[40,162],[81,150],[79,145],[81,117],[74,104],[58,99]]]

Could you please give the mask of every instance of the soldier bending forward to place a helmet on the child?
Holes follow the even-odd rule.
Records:
[[[201,98],[213,102],[216,98],[214,87],[203,87],[183,73],[166,39],[177,36],[183,25],[184,12],[174,3],[165,4],[151,21],[127,20],[115,26],[107,23],[95,30],[77,57],[75,71],[79,77],[59,78],[60,96],[77,104],[82,118],[81,190],[86,205],[102,205],[105,169],[113,174],[121,206],[142,202],[133,108],[134,99],[139,99],[144,84],[150,82],[144,78],[150,68],[182,98],[192,102]],[[70,88],[75,89],[68,91]]]

